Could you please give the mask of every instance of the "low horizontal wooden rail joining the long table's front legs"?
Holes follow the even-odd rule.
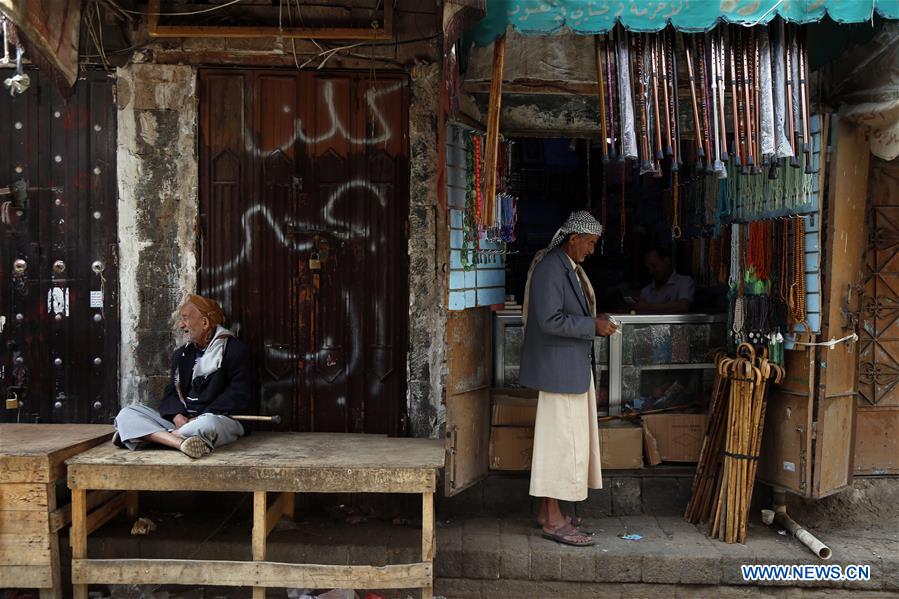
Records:
[[[332,566],[175,559],[75,559],[72,581],[96,584],[186,584],[263,588],[403,589],[431,585],[431,564]],[[86,586],[85,586],[86,588]]]

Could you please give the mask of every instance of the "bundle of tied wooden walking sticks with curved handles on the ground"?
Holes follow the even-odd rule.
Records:
[[[693,493],[684,518],[708,522],[709,536],[727,543],[746,540],[749,504],[758,469],[765,425],[768,382],[783,380],[784,370],[742,343],[737,357],[715,356],[717,372],[709,419]]]

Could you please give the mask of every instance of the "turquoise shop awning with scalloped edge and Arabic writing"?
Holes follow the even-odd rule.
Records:
[[[659,31],[670,23],[680,31],[698,32],[721,21],[756,25],[777,16],[800,24],[820,21],[824,15],[837,23],[859,23],[875,12],[899,19],[899,0],[487,0],[487,16],[468,37],[485,46],[509,25],[527,35],[563,27],[592,35],[616,23],[630,31]]]

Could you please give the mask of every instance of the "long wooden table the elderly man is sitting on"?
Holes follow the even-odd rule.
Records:
[[[421,588],[433,596],[434,491],[443,467],[439,440],[332,433],[254,433],[199,460],[177,451],[96,447],[69,460],[72,490],[72,582],[76,599],[88,585],[186,584],[267,587]],[[239,491],[253,493],[253,561],[88,559],[87,492]],[[269,493],[273,494],[269,501]],[[422,560],[348,566],[266,561],[266,539],[282,515],[293,516],[294,493],[420,493]]]

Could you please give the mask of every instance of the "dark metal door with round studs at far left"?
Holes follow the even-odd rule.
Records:
[[[0,79],[12,74],[0,70]],[[0,93],[2,422],[109,422],[118,401],[114,81]]]

